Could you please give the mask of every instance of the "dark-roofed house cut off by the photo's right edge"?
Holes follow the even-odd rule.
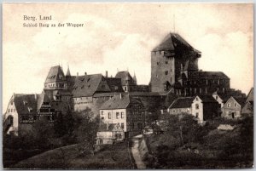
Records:
[[[243,116],[253,116],[253,88],[247,94],[247,100],[245,105],[241,109],[241,114]]]

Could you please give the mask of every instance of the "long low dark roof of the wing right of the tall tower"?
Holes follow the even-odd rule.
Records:
[[[195,71],[191,73],[190,77],[192,79],[198,77],[201,79],[230,79],[222,71]]]

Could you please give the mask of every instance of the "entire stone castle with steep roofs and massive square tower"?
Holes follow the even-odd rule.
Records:
[[[147,115],[166,109],[177,97],[236,92],[230,88],[230,78],[223,72],[199,70],[199,58],[200,51],[177,33],[170,33],[151,52],[151,80],[148,85],[137,85],[136,76],[131,77],[128,71],[119,71],[115,77],[108,77],[108,71],[105,76],[88,75],[86,72],[82,76],[72,76],[69,68],[65,75],[61,66],[53,66],[41,94],[14,94],[11,97],[4,114],[3,131],[18,134],[32,129],[32,123],[40,117],[47,117],[53,123],[55,115],[86,108],[100,115],[101,107],[110,109],[106,103],[115,103],[109,100],[117,95],[137,101],[143,106],[143,115]],[[144,119],[141,119],[137,128],[143,129]],[[105,120],[103,118],[102,122]]]

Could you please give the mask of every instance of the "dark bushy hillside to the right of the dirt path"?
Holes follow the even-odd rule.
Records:
[[[150,134],[145,137],[147,168],[251,168],[253,167],[253,129],[238,121],[232,130],[219,130],[218,122],[183,134],[181,145],[176,134]],[[246,133],[246,134],[245,134]],[[246,138],[246,139],[245,139]]]

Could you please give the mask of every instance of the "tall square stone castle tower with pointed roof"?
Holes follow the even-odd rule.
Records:
[[[182,74],[198,71],[201,52],[191,47],[177,33],[168,34],[151,52],[151,91],[167,92]]]

